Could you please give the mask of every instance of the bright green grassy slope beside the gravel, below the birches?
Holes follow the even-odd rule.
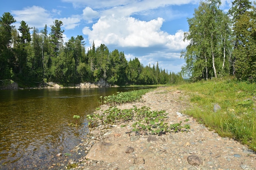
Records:
[[[256,151],[256,85],[236,79],[201,81],[177,86],[190,96],[192,108],[185,110],[216,130],[222,137],[231,137]],[[221,110],[213,112],[213,105]]]

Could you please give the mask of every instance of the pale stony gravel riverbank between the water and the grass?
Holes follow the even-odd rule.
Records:
[[[147,106],[151,110],[165,110],[168,124],[188,124],[185,132],[170,132],[162,136],[140,135],[130,132],[133,121],[98,126],[75,146],[70,154],[81,155],[49,165],[52,169],[72,170],[255,170],[256,155],[247,146],[227,137],[220,137],[198,124],[193,117],[182,114],[191,107],[189,96],[175,88],[157,88],[146,93],[139,102],[121,104],[117,108],[130,109]],[[102,114],[109,106],[102,105],[95,113]],[[211,109],[211,108],[209,108]],[[213,109],[213,108],[212,108]],[[186,121],[185,121],[186,120]],[[85,155],[85,156],[84,156]]]

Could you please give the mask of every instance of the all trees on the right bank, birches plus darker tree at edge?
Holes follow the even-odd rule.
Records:
[[[232,75],[256,83],[255,2],[234,0],[227,12],[220,5],[220,0],[201,1],[188,18],[182,74],[194,81]]]

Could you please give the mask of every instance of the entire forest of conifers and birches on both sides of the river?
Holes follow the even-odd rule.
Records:
[[[104,44],[87,50],[82,35],[63,42],[63,23],[55,20],[43,30],[25,21],[19,28],[6,12],[0,17],[0,80],[77,84],[173,84],[182,75],[191,80],[235,76],[256,82],[256,8],[249,0],[234,0],[229,11],[220,0],[201,1],[188,18],[189,41],[181,57],[186,64],[180,73],[168,73],[157,65],[143,66],[138,58],[127,61],[124,52],[109,51]]]

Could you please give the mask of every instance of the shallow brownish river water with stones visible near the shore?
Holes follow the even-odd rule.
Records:
[[[86,137],[86,115],[99,106],[100,96],[137,89],[0,90],[0,169],[47,169],[60,161],[58,153],[70,153]],[[81,126],[68,126],[74,115]]]

